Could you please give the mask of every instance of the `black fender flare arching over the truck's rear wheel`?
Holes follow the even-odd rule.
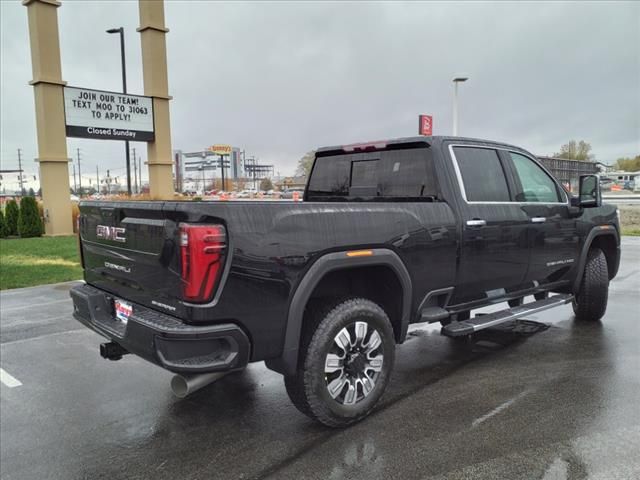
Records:
[[[346,252],[333,252],[318,258],[304,275],[293,294],[287,314],[282,354],[278,358],[266,360],[267,367],[283,375],[295,375],[298,368],[298,353],[302,334],[304,308],[311,293],[322,278],[335,270],[345,270],[366,266],[387,266],[398,277],[402,287],[402,314],[400,339],[404,339],[409,328],[411,314],[411,277],[404,263],[394,251],[386,248],[370,249],[369,256],[348,257]]]

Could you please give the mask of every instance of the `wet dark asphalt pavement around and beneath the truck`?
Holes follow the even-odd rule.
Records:
[[[376,412],[342,431],[262,363],[179,400],[170,373],[103,360],[70,285],[0,293],[2,480],[640,478],[640,238],[602,323],[565,306],[469,343],[419,326]]]

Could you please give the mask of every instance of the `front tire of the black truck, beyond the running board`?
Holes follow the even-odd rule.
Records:
[[[573,313],[577,320],[597,322],[607,311],[609,297],[609,269],[607,259],[599,248],[592,248],[584,267],[580,290],[573,299]]]

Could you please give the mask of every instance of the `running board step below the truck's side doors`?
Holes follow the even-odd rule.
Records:
[[[447,337],[470,335],[484,328],[493,327],[500,323],[566,305],[571,302],[571,300],[573,300],[573,295],[568,293],[554,295],[553,297],[538,300],[537,302],[525,303],[519,307],[507,308],[506,310],[500,310],[499,312],[488,313],[486,315],[477,315],[470,320],[451,322],[449,325],[442,327],[441,333]]]

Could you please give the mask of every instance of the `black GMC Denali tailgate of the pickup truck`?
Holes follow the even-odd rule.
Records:
[[[87,283],[180,316],[178,225],[165,217],[165,205],[81,204],[82,258]]]

